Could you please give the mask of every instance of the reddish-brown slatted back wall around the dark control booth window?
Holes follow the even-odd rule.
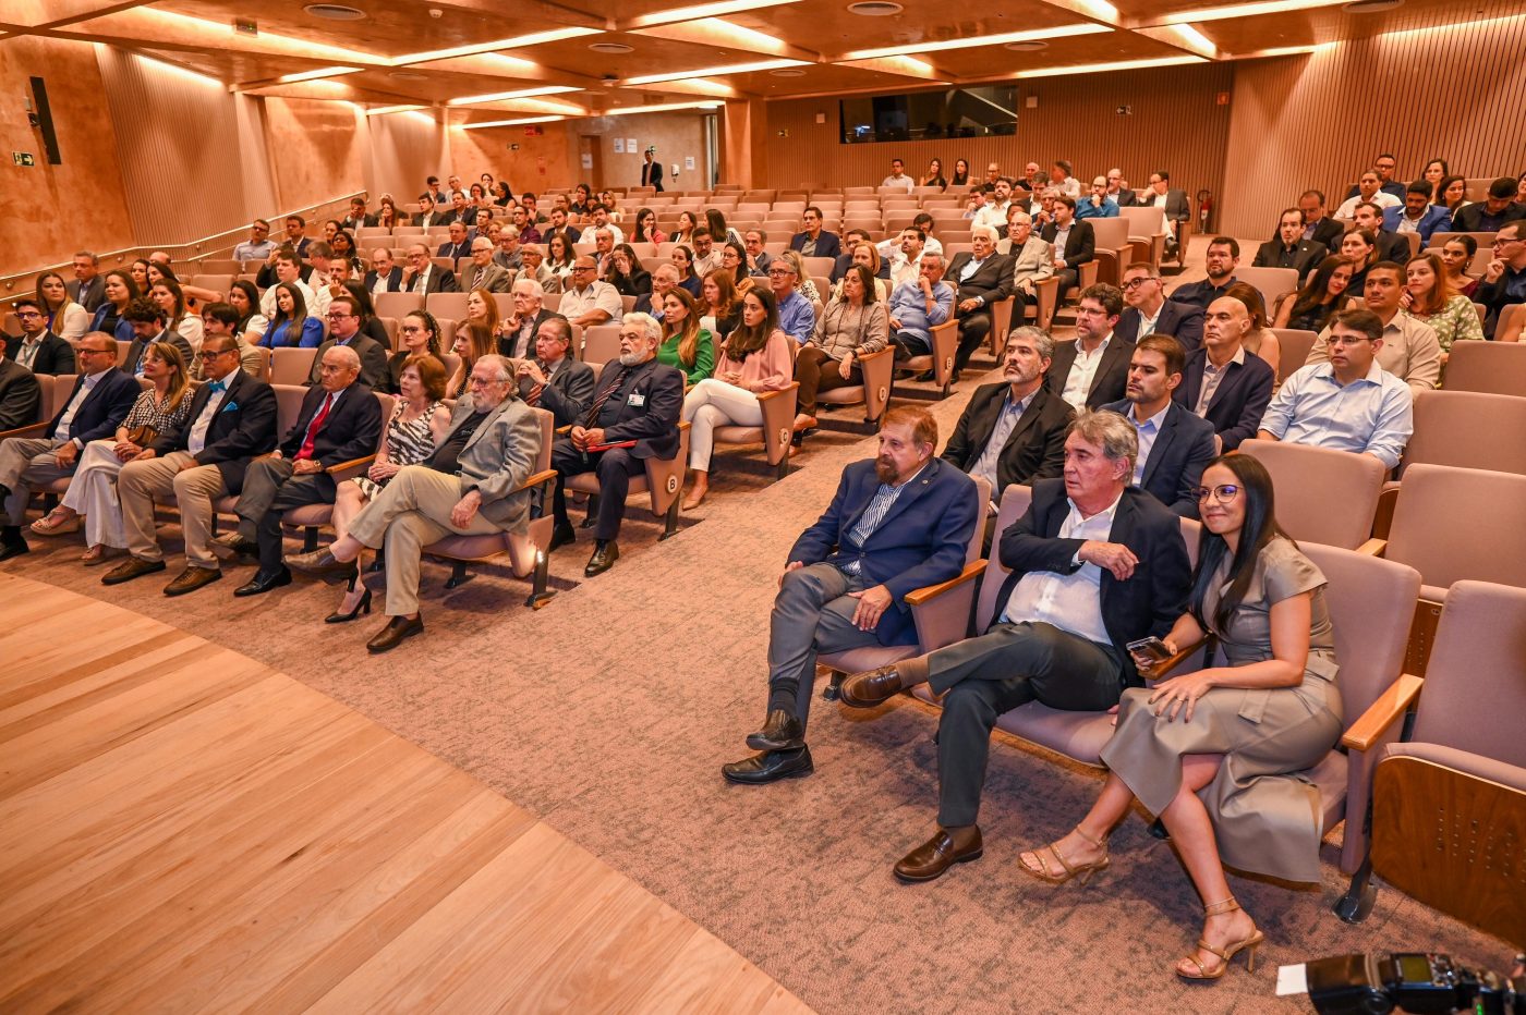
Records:
[[[1201,187],[1218,194],[1230,107],[1216,105],[1216,96],[1230,90],[1231,79],[1228,64],[1202,64],[1019,81],[1015,137],[899,145],[838,143],[838,101],[832,98],[769,102],[766,186],[873,186],[890,171],[891,157],[920,174],[937,155],[948,174],[964,157],[977,175],[992,158],[1012,172],[1022,172],[1029,158],[1045,165],[1068,158],[1088,183],[1119,166],[1138,186],[1164,168],[1189,195]],[[1022,105],[1030,94],[1039,99],[1035,110]],[[1134,113],[1119,116],[1120,105]],[[815,122],[818,111],[826,113],[826,123]],[[789,136],[780,137],[781,130]]]

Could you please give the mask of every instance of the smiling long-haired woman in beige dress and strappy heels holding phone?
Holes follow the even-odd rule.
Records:
[[[1051,884],[1105,870],[1108,835],[1137,799],[1170,832],[1204,902],[1202,934],[1175,965],[1186,980],[1219,978],[1245,949],[1253,965],[1264,940],[1225,864],[1320,881],[1322,809],[1305,773],[1341,733],[1326,579],[1277,526],[1271,477],[1254,457],[1228,454],[1201,482],[1189,608],[1163,642],[1175,654],[1212,636],[1210,664],[1123,692],[1097,802],[1064,838],[1018,858]],[[1157,663],[1140,652],[1135,661],[1146,677]]]

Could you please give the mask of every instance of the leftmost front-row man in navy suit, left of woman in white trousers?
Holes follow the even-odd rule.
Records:
[[[79,360],[84,372],[43,436],[8,437],[0,443],[0,501],[6,511],[0,526],[0,561],[27,552],[21,524],[32,488],[73,475],[85,445],[114,434],[137,401],[137,383],[116,369],[116,340],[111,335],[99,331],[85,334],[79,340]],[[6,366],[15,369],[15,364]],[[35,390],[35,381],[32,387]],[[6,428],[3,422],[0,428]]]

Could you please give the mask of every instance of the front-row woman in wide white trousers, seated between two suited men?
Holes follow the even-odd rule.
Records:
[[[143,457],[160,434],[189,422],[191,373],[174,344],[154,341],[143,351],[143,379],[150,387],[133,402],[116,434],[85,445],[63,501],[46,518],[32,523],[37,535],[55,535],[73,532],[75,520],[84,515],[87,549],[79,559],[85,565],[102,564],[111,550],[127,549],[122,503],[116,497],[122,466]]]

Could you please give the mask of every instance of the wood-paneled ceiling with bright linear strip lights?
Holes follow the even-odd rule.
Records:
[[[1402,0],[1366,14],[1332,0],[1010,0],[975,9],[899,0],[882,17],[848,3],[0,0],[0,44],[24,35],[107,43],[240,91],[438,110],[470,123],[1242,59],[1482,17],[1470,0]],[[334,5],[357,17],[320,17],[317,8]],[[1526,0],[1489,8],[1492,17],[1526,14]]]

